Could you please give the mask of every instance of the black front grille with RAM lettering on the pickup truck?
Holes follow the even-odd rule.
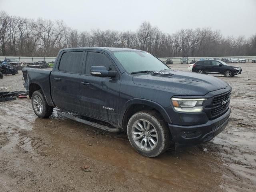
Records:
[[[217,118],[221,116],[229,107],[231,91],[214,97],[211,105],[211,116]]]

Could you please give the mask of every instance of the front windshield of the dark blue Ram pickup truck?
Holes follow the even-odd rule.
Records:
[[[128,73],[170,69],[145,51],[114,51],[113,54]]]

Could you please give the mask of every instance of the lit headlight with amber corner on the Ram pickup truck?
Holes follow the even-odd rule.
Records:
[[[205,98],[183,99],[172,98],[172,105],[176,111],[181,112],[202,112]]]

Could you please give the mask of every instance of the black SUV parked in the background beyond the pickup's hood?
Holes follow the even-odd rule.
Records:
[[[192,72],[203,74],[222,74],[225,77],[232,77],[241,74],[242,68],[229,66],[220,60],[198,61],[193,65]]]

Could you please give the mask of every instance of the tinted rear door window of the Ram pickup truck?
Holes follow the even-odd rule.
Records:
[[[65,52],[60,59],[59,70],[81,73],[83,55],[83,52]]]

